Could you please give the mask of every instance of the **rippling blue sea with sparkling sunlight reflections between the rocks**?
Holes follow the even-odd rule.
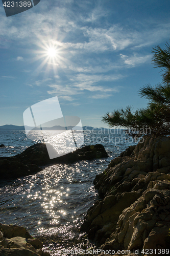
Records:
[[[25,131],[0,131],[1,157],[20,154],[41,142],[27,138]],[[72,255],[71,250],[94,246],[81,224],[96,200],[93,180],[110,161],[138,141],[122,129],[84,131],[84,144],[102,144],[108,158],[83,160],[72,164],[43,166],[34,175],[0,181],[0,222],[22,225],[32,236],[44,241],[43,249],[51,255]]]

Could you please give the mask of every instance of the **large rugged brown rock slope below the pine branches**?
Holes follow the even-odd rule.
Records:
[[[170,254],[170,138],[145,137],[93,183],[101,199],[81,227],[93,243],[104,251],[129,250],[128,255]]]

